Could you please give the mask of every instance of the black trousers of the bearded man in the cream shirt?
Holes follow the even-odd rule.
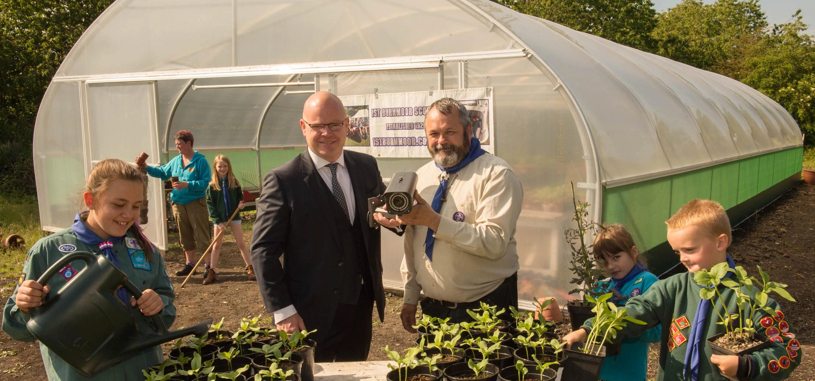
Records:
[[[481,308],[480,302],[496,305],[499,311],[505,309],[504,313],[499,315],[499,317],[504,320],[509,320],[511,317],[509,314],[509,306],[511,305],[518,309],[518,273],[512,274],[509,278],[505,278],[504,282],[502,282],[498,288],[479,300],[453,304],[447,301],[425,298],[422,299],[419,304],[421,304],[421,313],[440,319],[450,317],[450,324],[455,324],[460,322],[472,322],[473,317],[469,316],[467,310]]]

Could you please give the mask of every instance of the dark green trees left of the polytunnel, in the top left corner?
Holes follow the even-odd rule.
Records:
[[[112,0],[0,0],[0,186],[34,194],[34,120],[68,50]]]

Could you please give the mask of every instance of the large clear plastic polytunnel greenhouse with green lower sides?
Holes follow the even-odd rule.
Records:
[[[735,223],[800,178],[800,129],[758,91],[488,0],[118,0],[42,100],[42,229],[72,224],[99,160],[145,151],[164,164],[182,129],[257,192],[305,149],[298,120],[316,90],[341,96],[355,131],[346,149],[377,157],[385,182],[430,160],[422,107],[464,101],[483,147],[522,181],[523,300],[571,289],[570,181],[659,274],[678,261],[664,221],[686,201],[716,199]],[[150,181],[148,236],[165,248],[163,184]],[[385,283],[399,288],[402,239],[382,235]]]

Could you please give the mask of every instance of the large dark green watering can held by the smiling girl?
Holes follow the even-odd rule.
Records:
[[[27,327],[34,337],[56,353],[73,369],[86,377],[114,366],[121,361],[159,344],[186,335],[204,335],[212,318],[183,330],[167,331],[159,314],[149,319],[155,332],[139,332],[136,317],[116,295],[122,286],[135,296],[142,291],[104,256],[90,252],[72,252],[51,265],[37,283],[45,285],[55,274],[72,261],[85,262],[85,269],[74,275],[57,292],[50,292],[48,300],[30,310]]]

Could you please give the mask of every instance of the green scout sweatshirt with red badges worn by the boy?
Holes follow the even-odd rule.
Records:
[[[691,325],[694,323],[701,288],[702,286],[691,278],[690,273],[676,274],[654,283],[648,292],[631,298],[625,304],[625,307],[628,308],[628,315],[645,322],[645,326],[629,322],[622,331],[619,331],[617,338],[613,341],[637,337],[650,328],[661,325],[662,342],[659,350],[657,380],[681,380],[682,370],[685,367],[685,352],[689,346]],[[757,287],[753,287],[752,291],[744,290],[751,296],[755,296],[756,291],[758,291]],[[720,286],[719,292],[725,299],[730,299],[730,304],[727,306],[728,311],[730,313],[737,311],[734,291]],[[776,311],[776,314],[770,316],[764,311],[757,311],[753,315],[753,322],[757,333],[772,337],[774,341],[769,348],[750,355],[754,366],[758,368],[755,379],[786,379],[795,366],[801,362],[800,343],[795,339],[795,330],[786,322],[778,302],[768,299],[767,306]],[[724,312],[721,311],[721,302],[717,301],[716,307],[724,315]],[[746,316],[749,316],[749,311]],[[587,320],[586,325],[590,326],[592,322],[593,318]],[[710,362],[713,352],[704,342],[708,337],[724,332],[725,326],[716,324],[720,322],[720,318],[716,310],[712,308],[705,322],[701,344],[702,352],[699,354],[699,379],[725,380],[725,376],[719,373],[719,368]]]

